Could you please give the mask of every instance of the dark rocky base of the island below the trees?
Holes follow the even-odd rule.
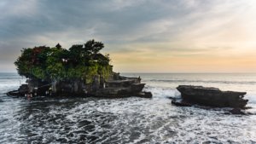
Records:
[[[141,78],[126,78],[115,72],[108,80],[96,75],[91,84],[84,84],[79,78],[52,83],[40,79],[29,79],[26,82],[26,85],[20,86],[20,95],[152,96],[150,92],[143,92],[145,84],[141,84]]]

